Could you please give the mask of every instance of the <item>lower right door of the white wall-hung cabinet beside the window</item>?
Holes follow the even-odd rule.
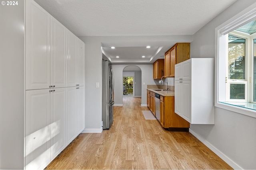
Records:
[[[182,103],[181,104],[182,104],[182,117],[186,121],[191,122],[191,80],[182,81]]]

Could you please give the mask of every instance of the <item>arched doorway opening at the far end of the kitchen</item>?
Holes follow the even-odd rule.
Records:
[[[141,97],[141,69],[126,66],[123,69],[123,97]]]

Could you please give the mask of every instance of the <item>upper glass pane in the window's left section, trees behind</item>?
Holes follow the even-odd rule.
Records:
[[[228,79],[245,80],[245,39],[233,35],[228,35]]]

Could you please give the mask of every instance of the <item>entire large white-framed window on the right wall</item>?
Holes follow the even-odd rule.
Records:
[[[256,3],[216,30],[215,106],[256,117]]]

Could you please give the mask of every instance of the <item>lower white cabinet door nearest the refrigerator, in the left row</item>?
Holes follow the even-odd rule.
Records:
[[[84,86],[77,87],[77,135],[84,130]]]

